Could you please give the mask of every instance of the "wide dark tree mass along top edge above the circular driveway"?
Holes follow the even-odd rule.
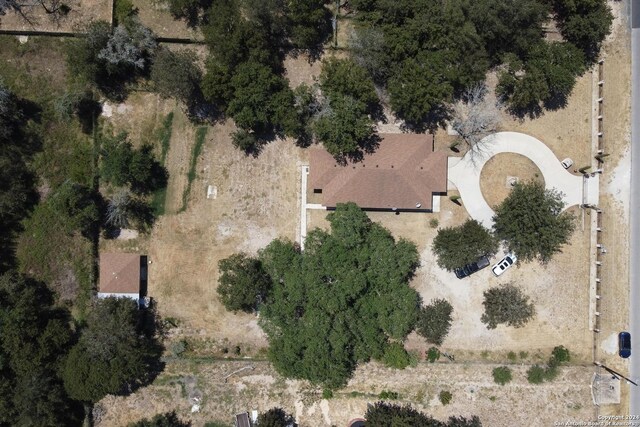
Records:
[[[483,81],[490,67],[505,63],[510,71],[500,94],[512,112],[562,107],[558,97],[568,97],[611,26],[605,0],[353,0],[349,7],[359,21],[350,38],[353,57],[386,87],[397,116],[417,129],[448,119],[444,107],[453,97]],[[545,40],[550,19],[566,40],[562,49],[581,67],[573,67],[573,60],[556,63],[553,53],[538,47],[559,44]],[[536,50],[541,52],[532,56]],[[515,81],[509,83],[507,75]]]

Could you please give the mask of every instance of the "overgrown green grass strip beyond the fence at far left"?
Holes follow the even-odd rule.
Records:
[[[93,244],[65,233],[48,203],[63,183],[92,186],[95,176],[93,136],[83,133],[77,119],[62,119],[55,110],[67,88],[64,45],[37,37],[22,45],[15,37],[0,36],[0,78],[32,103],[32,131],[40,145],[31,166],[41,202],[24,222],[17,246],[20,268],[49,284],[82,316],[93,289]]]

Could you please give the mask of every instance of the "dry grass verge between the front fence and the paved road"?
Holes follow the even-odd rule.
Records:
[[[602,257],[600,330],[596,357],[620,372],[629,372],[628,359],[617,354],[618,332],[629,328],[629,197],[631,142],[631,51],[626,2],[609,3],[616,17],[614,31],[605,44],[603,126],[605,174],[600,180],[602,244],[607,253]],[[605,415],[628,413],[628,388],[622,383],[621,404],[602,408]]]

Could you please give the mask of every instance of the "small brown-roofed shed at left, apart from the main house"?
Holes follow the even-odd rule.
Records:
[[[139,254],[101,253],[98,298],[131,298],[145,304],[147,257]]]

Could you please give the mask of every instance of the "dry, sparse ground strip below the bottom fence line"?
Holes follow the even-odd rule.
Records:
[[[591,367],[563,367],[555,381],[531,385],[526,380],[528,366],[513,364],[512,382],[500,386],[493,382],[491,373],[496,366],[443,362],[393,370],[369,363],[357,369],[345,389],[324,400],[319,388],[285,380],[266,362],[172,362],[153,385],[129,397],[103,399],[99,403],[103,415],[97,425],[126,425],[168,410],[176,410],[194,425],[212,420],[226,423],[233,414],[254,409],[262,412],[274,406],[294,414],[301,427],[346,425],[362,416],[367,404],[378,401],[378,394],[385,390],[399,393],[396,403],[411,403],[437,419],[477,415],[483,425],[492,427],[553,425],[554,421],[594,418]],[[245,370],[228,377],[242,368]],[[203,396],[198,413],[191,413],[193,401],[185,385],[193,378]],[[446,406],[438,399],[443,390],[453,395]]]

